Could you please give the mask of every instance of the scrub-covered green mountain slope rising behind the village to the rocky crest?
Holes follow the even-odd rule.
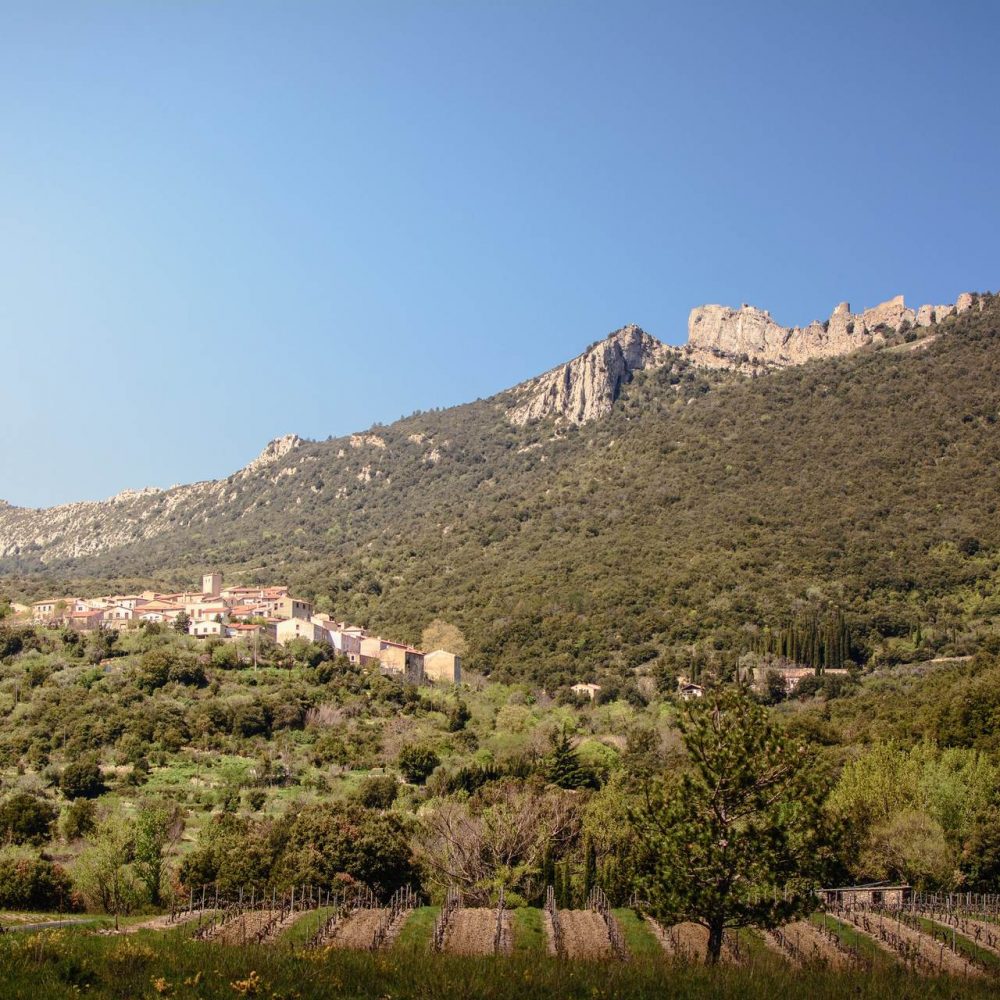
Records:
[[[1000,302],[921,333],[756,379],[678,355],[579,427],[501,396],[306,443],[155,539],[8,559],[6,587],[218,566],[413,642],[443,619],[469,666],[553,684],[725,670],[840,615],[856,661],[961,653],[1000,614]]]

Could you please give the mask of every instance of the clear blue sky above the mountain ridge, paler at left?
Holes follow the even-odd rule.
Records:
[[[1000,286],[996,3],[0,0],[0,497],[227,475],[703,302]]]

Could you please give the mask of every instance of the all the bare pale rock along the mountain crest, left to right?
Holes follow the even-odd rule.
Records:
[[[530,434],[535,424],[551,423],[558,436],[570,426],[606,418],[639,372],[690,366],[716,371],[724,377],[730,372],[745,375],[780,369],[815,357],[829,358],[861,347],[879,346],[895,328],[911,327],[915,334],[927,335],[940,329],[942,322],[971,311],[977,303],[981,308],[983,300],[965,293],[955,306],[909,310],[900,296],[858,314],[852,314],[842,303],[826,328],[814,323],[803,329],[781,327],[769,313],[746,305],[740,310],[703,306],[692,310],[691,332],[683,347],[666,345],[630,324],[569,362],[490,397],[483,406],[492,408],[525,433]],[[804,347],[789,348],[797,340]],[[673,390],[676,392],[680,385],[678,376]],[[334,503],[345,501],[355,483],[364,486],[373,479],[391,479],[391,473],[379,467],[385,443],[373,431],[335,439],[338,458],[372,452],[375,461],[361,461],[357,468],[345,465],[350,478],[338,485],[330,498]],[[447,455],[447,439],[435,441],[422,432],[416,438],[419,440],[408,444],[416,444],[420,465],[436,465]],[[258,509],[253,505],[240,507],[247,483],[259,479],[257,485],[263,485],[266,492],[267,484],[276,486],[282,478],[292,480],[308,474],[308,466],[317,460],[311,450],[321,444],[287,434],[269,442],[257,458],[225,478],[168,489],[128,489],[103,501],[50,508],[0,504],[0,560],[13,559],[16,564],[28,557],[30,565],[41,568],[51,562],[149,542],[222,514],[244,519]],[[526,441],[521,448],[537,449],[539,444]],[[322,491],[315,483],[312,489]],[[272,502],[280,501],[268,498],[253,503],[266,507]],[[301,504],[302,497],[296,497],[295,502]]]

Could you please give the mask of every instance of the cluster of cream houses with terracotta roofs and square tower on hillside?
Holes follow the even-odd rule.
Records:
[[[198,639],[234,640],[266,635],[285,645],[296,639],[326,643],[351,663],[378,664],[386,674],[410,683],[424,680],[458,684],[461,657],[445,649],[422,652],[406,643],[371,635],[356,625],[314,614],[310,601],[293,597],[288,587],[223,587],[221,573],[206,573],[200,591],[101,597],[57,597],[20,609],[35,624],[78,631],[167,625]]]

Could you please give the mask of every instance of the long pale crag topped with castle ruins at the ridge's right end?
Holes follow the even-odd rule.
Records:
[[[784,368],[849,354],[880,343],[888,332],[940,323],[975,304],[970,293],[960,295],[954,305],[916,310],[907,307],[902,295],[860,313],[852,313],[850,305],[841,302],[825,323],[791,328],[776,323],[767,310],[749,305],[700,306],[688,318],[685,352],[695,364],[708,368]]]

